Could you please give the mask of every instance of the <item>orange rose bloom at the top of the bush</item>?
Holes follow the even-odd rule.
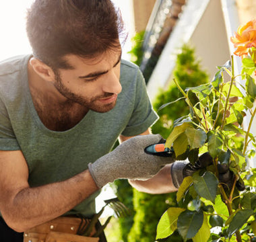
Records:
[[[243,56],[248,54],[249,48],[256,47],[256,19],[249,21],[244,26],[239,26],[235,37],[231,37],[231,42],[237,48],[234,54]]]

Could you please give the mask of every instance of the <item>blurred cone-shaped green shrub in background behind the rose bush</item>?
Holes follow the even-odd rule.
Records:
[[[207,73],[201,70],[200,63],[196,60],[194,52],[195,50],[191,46],[185,44],[181,49],[181,53],[177,55],[177,63],[173,71],[173,76],[183,89],[209,81]],[[183,97],[181,91],[177,89],[174,83],[170,83],[166,91],[163,89],[159,91],[156,100],[153,102],[154,109],[158,110],[163,104],[174,102],[179,97]],[[189,107],[184,99],[166,106],[166,108],[162,108],[162,110],[158,111],[160,119],[152,126],[152,132],[161,134],[164,138],[167,138],[170,134],[170,127],[173,121],[186,114],[189,114]]]

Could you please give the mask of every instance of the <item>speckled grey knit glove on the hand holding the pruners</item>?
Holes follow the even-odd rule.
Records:
[[[142,179],[153,177],[164,165],[173,163],[174,157],[151,155],[144,151],[149,145],[162,143],[160,134],[129,138],[114,151],[88,165],[99,188],[115,179]]]

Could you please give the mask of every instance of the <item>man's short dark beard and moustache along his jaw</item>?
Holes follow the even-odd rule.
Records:
[[[92,97],[89,99],[89,98],[83,97],[82,95],[78,95],[71,92],[70,89],[68,89],[67,87],[65,87],[65,85],[63,85],[61,77],[57,72],[55,72],[54,85],[57,91],[59,91],[61,95],[66,97],[69,100],[69,102],[80,104],[81,106],[84,106],[85,108],[88,108],[89,110],[92,110],[94,112],[100,112],[100,113],[108,112],[113,108],[115,108],[115,105],[117,103],[117,101],[115,101],[110,104],[100,104],[100,103],[97,104],[98,99],[110,97],[114,93],[103,93],[102,95],[98,95],[96,97]]]

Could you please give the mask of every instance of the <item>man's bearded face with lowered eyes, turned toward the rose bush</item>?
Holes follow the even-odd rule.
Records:
[[[78,103],[95,112],[108,112],[115,107],[122,87],[120,51],[108,51],[95,58],[65,56],[73,69],[60,69],[55,74],[55,88],[69,102]]]

